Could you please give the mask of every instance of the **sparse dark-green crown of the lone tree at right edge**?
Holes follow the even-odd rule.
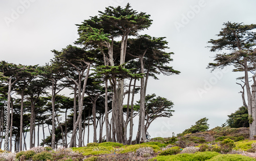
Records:
[[[216,67],[224,67],[234,65],[234,71],[242,71],[244,66],[244,57],[248,59],[248,70],[252,70],[255,65],[255,46],[256,46],[256,25],[244,25],[243,23],[227,22],[223,24],[225,27],[217,35],[219,39],[210,39],[211,52],[224,51],[227,53],[217,54],[215,63],[209,63],[208,67],[215,69]]]

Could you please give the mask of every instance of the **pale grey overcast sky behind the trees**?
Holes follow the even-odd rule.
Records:
[[[76,40],[75,24],[105,7],[127,3],[151,15],[152,26],[141,34],[166,37],[170,48],[166,52],[175,53],[170,65],[181,72],[148,82],[147,94],[175,104],[173,117],[152,123],[151,136],[172,136],[204,117],[210,128],[225,123],[227,115],[242,106],[241,87],[236,84],[242,73],[233,73],[231,68],[210,73],[207,64],[217,53],[209,52],[207,41],[217,38],[224,22],[256,24],[256,1],[1,0],[0,60],[44,65],[53,58],[51,50],[61,50]]]

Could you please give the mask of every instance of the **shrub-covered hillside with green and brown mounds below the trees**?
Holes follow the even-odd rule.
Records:
[[[72,149],[35,147],[8,155],[0,151],[0,160],[256,160],[256,141],[248,141],[248,133],[248,128],[216,127],[136,145],[107,142]]]

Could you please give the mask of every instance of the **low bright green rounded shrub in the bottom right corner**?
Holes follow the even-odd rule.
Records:
[[[252,161],[255,160],[249,156],[243,156],[239,154],[221,154],[212,157],[209,161]]]

